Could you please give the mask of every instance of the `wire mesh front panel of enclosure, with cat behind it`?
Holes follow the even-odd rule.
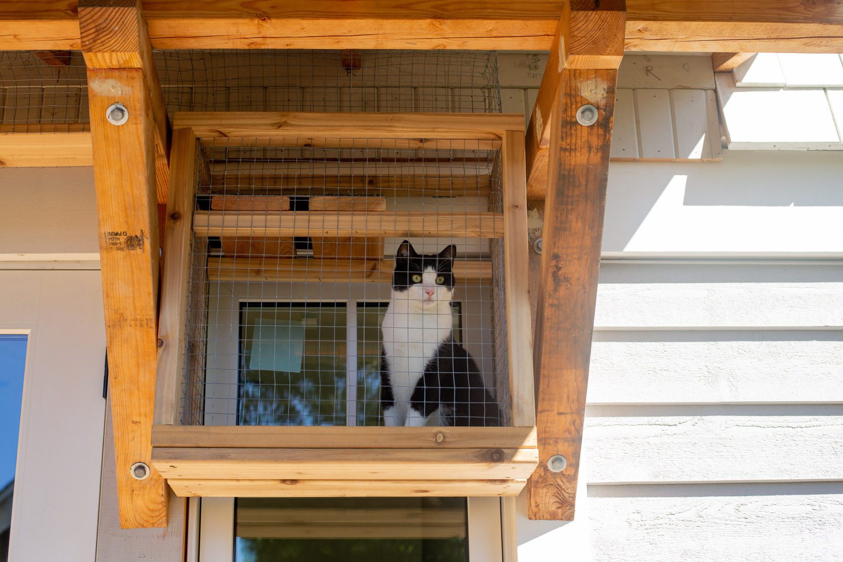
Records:
[[[506,424],[499,159],[489,141],[207,146],[182,423]]]

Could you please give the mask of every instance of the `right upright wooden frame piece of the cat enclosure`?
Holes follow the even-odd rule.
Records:
[[[535,426],[533,386],[533,323],[529,307],[529,246],[527,244],[527,180],[524,169],[524,135],[507,131],[501,153],[503,163],[503,262],[504,302],[507,315],[507,358],[512,423]]]

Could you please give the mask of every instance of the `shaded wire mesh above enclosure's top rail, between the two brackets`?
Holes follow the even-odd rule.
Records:
[[[500,112],[487,51],[155,51],[175,111]]]

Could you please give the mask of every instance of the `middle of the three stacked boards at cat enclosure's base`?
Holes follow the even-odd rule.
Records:
[[[500,447],[153,448],[167,479],[526,479],[537,456],[533,448]]]

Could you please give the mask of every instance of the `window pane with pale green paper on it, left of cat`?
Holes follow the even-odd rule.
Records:
[[[245,303],[241,426],[346,425],[346,306]]]

